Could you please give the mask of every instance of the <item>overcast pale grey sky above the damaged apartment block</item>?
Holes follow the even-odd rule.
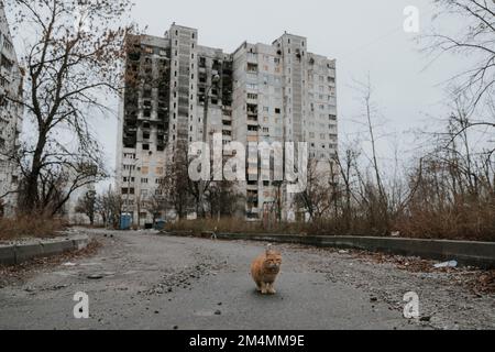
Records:
[[[414,35],[405,33],[404,9],[420,10],[420,31],[430,26],[432,0],[135,0],[132,19],[147,34],[163,35],[172,22],[199,30],[201,45],[234,51],[243,41],[272,43],[284,31],[308,38],[310,52],[337,58],[338,109],[341,140],[362,127],[353,99],[353,79],[370,74],[387,131],[424,127],[426,113],[446,111],[439,86],[462,62],[444,57],[424,70],[428,58],[419,53]],[[453,26],[460,23],[452,22]],[[117,102],[113,101],[117,107]],[[117,110],[117,108],[116,108]],[[96,131],[114,167],[117,119],[99,121]],[[387,153],[388,144],[381,146]],[[407,148],[408,145],[403,145]]]

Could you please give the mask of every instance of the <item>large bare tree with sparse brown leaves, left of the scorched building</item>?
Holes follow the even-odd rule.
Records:
[[[15,102],[23,106],[35,130],[18,155],[24,175],[20,205],[31,212],[43,209],[46,200],[42,178],[57,178],[56,172],[72,165],[100,165],[95,163],[100,154],[89,117],[107,112],[101,97],[119,88],[128,31],[121,23],[131,2],[9,0],[8,6],[15,26],[29,32],[21,55],[26,72],[24,99]],[[70,188],[80,186],[74,183]]]

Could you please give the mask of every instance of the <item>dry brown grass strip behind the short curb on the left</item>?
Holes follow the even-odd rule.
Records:
[[[0,219],[0,241],[12,241],[24,238],[54,238],[57,231],[66,228],[59,219],[44,217],[18,217],[14,219]]]

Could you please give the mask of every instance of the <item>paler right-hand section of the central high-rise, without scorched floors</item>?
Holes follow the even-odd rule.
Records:
[[[243,43],[233,65],[237,141],[307,142],[311,158],[331,160],[338,139],[336,61],[309,53],[305,37],[286,33],[272,45]],[[246,212],[256,219],[278,189],[256,177],[257,158],[248,163]],[[298,211],[292,198],[284,197],[284,218]]]

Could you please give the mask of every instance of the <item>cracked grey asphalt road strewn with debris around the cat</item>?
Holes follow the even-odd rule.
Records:
[[[97,254],[0,288],[0,329],[495,328],[495,297],[475,296],[449,274],[410,273],[352,253],[278,245],[284,255],[278,294],[260,296],[249,273],[265,243],[90,234],[102,243]],[[78,292],[89,295],[89,319],[74,318]],[[403,317],[408,292],[420,296],[424,321]]]

